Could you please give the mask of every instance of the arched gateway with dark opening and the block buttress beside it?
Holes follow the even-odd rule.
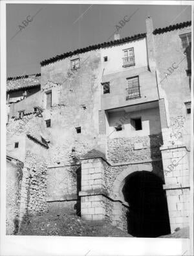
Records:
[[[101,157],[81,161],[81,218],[107,219],[134,237],[169,234],[160,168],[149,163],[124,166],[117,175],[116,170]]]

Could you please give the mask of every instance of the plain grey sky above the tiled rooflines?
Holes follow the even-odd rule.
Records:
[[[6,75],[41,73],[42,60],[114,40],[129,16],[117,27],[121,38],[146,32],[147,16],[154,29],[190,21],[191,6],[7,4]]]

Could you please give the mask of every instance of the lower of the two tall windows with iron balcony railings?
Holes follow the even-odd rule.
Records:
[[[140,97],[140,84],[139,84],[139,77],[129,77],[127,78],[128,88],[127,90],[127,97],[128,99],[135,99]]]

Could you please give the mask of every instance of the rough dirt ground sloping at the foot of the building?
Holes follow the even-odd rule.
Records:
[[[73,237],[133,237],[109,222],[87,222],[72,212],[45,212],[29,216],[17,235],[73,236]],[[189,227],[160,238],[189,238]]]

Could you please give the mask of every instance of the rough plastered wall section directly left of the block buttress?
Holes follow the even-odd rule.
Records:
[[[47,206],[49,210],[70,211],[81,214],[81,167],[49,166],[47,173]]]

